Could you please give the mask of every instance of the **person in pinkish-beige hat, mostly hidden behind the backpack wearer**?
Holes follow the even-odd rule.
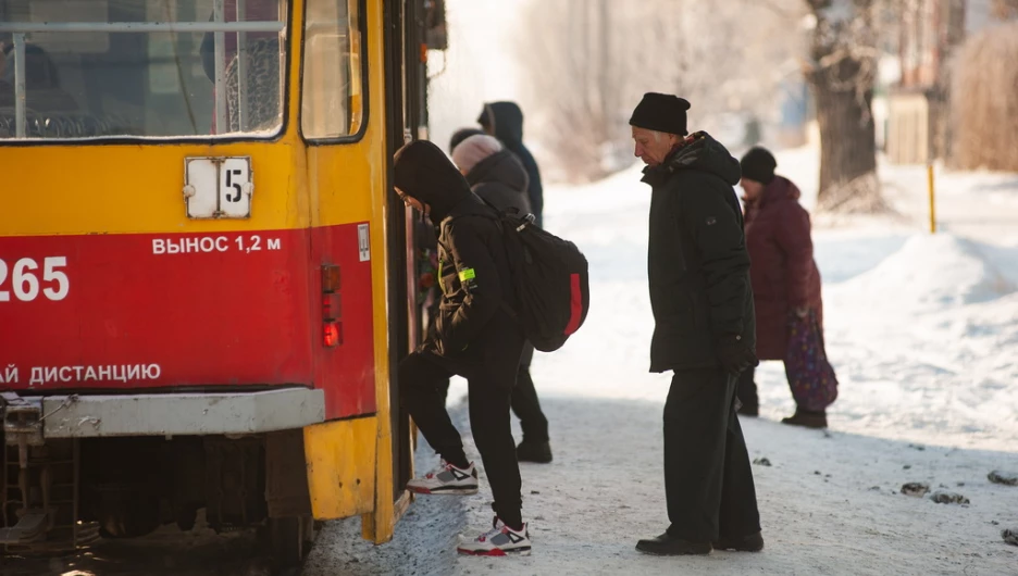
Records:
[[[487,135],[473,135],[452,150],[452,161],[467,177],[471,190],[495,208],[519,214],[531,212],[526,198],[526,172],[516,155]],[[523,348],[517,385],[512,389],[512,411],[520,418],[523,440],[517,446],[520,462],[551,462],[551,442],[548,418],[541,410],[537,389],[531,378],[530,364],[534,347],[529,341]]]

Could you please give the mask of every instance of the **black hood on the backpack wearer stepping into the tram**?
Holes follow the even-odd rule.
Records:
[[[431,221],[442,222],[465,198],[470,185],[452,161],[427,140],[414,140],[396,152],[393,184],[431,206]]]

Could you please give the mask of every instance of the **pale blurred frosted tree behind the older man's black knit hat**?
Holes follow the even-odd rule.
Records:
[[[575,181],[632,161],[628,120],[644,92],[688,99],[692,129],[717,128],[721,113],[767,114],[797,72],[802,13],[799,0],[532,1],[517,50],[527,132]]]

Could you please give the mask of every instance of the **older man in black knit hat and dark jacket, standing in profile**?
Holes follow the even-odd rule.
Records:
[[[665,403],[665,496],[671,525],[640,540],[650,554],[763,548],[749,454],[735,414],[738,374],[758,364],[738,162],[686,129],[690,103],[644,95],[630,118],[651,187],[650,371],[672,371]]]

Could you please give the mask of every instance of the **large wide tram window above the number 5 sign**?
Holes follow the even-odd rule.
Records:
[[[286,15],[285,0],[0,0],[0,140],[271,137]]]

